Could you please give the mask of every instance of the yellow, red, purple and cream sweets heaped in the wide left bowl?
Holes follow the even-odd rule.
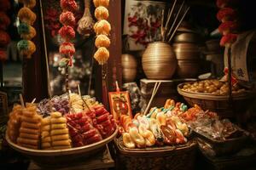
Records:
[[[90,96],[63,94],[38,105],[15,105],[7,134],[20,146],[35,150],[62,150],[94,144],[116,129],[113,116]]]

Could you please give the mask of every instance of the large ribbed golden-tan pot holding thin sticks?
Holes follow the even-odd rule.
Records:
[[[148,79],[171,79],[177,68],[172,46],[167,42],[151,42],[143,54],[143,71]]]

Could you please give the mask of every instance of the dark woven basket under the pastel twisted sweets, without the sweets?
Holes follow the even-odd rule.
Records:
[[[145,149],[128,149],[122,138],[115,139],[117,150],[116,169],[122,170],[193,170],[197,143],[189,140],[178,146],[150,147]]]

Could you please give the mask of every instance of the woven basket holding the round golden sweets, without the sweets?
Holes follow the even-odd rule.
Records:
[[[223,118],[234,118],[237,114],[245,113],[255,96],[254,93],[236,94],[232,98],[232,107],[230,107],[229,96],[187,92],[182,89],[185,83],[177,86],[177,92],[183,95],[189,105],[200,105],[203,110],[215,111]]]

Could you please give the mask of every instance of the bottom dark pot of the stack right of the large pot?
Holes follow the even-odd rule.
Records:
[[[197,77],[199,67],[199,60],[177,60],[177,76],[180,78]]]

